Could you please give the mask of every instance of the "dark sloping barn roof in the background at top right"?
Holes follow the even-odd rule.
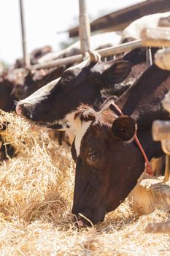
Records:
[[[91,31],[120,31],[132,21],[156,12],[170,11],[170,0],[147,0],[116,12],[111,12],[90,23]],[[69,37],[77,37],[79,27],[69,29]]]

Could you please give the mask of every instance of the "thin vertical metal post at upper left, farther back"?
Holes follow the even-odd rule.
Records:
[[[26,51],[26,29],[25,29],[25,20],[24,20],[24,12],[23,12],[23,0],[20,0],[20,25],[22,31],[22,42],[23,42],[23,64],[24,67],[30,66],[30,59],[28,53]]]

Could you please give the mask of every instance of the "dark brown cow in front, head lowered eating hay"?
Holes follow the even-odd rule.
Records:
[[[136,186],[144,171],[144,156],[133,140],[135,134],[149,160],[163,156],[161,143],[152,140],[152,121],[169,119],[161,105],[169,89],[170,72],[152,64],[115,101],[125,116],[109,99],[98,112],[82,105],[74,114],[72,213],[80,225],[104,221],[105,214],[115,210]]]

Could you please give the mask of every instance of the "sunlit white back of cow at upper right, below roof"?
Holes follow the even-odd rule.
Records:
[[[156,28],[161,25],[160,19],[169,17],[170,12],[155,13],[151,15],[145,15],[142,18],[134,20],[129,26],[127,26],[122,33],[120,43],[131,42],[137,39],[141,39],[141,31],[145,27]]]

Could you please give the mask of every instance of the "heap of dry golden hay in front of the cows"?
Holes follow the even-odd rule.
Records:
[[[72,222],[74,162],[70,148],[12,113],[0,132],[17,157],[0,166],[0,255],[169,255],[169,236],[144,233],[168,213],[138,216],[125,200],[105,221],[77,229]]]

